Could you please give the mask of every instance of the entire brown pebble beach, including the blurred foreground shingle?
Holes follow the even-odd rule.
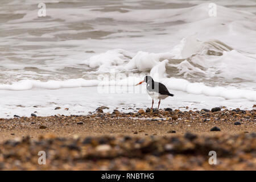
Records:
[[[256,110],[102,111],[0,119],[0,169],[256,170]]]

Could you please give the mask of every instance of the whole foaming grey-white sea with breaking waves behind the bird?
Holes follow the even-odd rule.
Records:
[[[253,0],[40,2],[1,1],[0,118],[145,109],[144,75],[175,94],[162,108],[256,104]]]

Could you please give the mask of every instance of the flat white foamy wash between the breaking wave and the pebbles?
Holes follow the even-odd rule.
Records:
[[[144,86],[142,88],[146,89]],[[226,106],[227,109],[231,110],[236,108],[252,110],[255,109],[253,105],[256,104],[246,99],[224,100],[221,97],[189,94],[178,90],[172,91],[175,97],[163,100],[160,108],[170,107],[181,111],[200,111],[204,108],[211,109],[212,107]],[[98,106],[102,105],[109,107],[108,110],[104,110],[104,113],[112,113],[117,107],[120,112],[128,113],[130,111],[135,112],[137,107],[146,109],[152,103],[152,99],[144,93],[99,94],[97,87],[63,88],[56,90],[32,89],[20,92],[4,92],[4,90],[0,90],[0,94],[2,96],[2,100],[0,98],[0,118],[13,118],[14,115],[30,117],[31,113],[42,117],[57,114],[85,115],[89,111],[95,111]],[[156,106],[157,103],[154,107]],[[56,107],[61,107],[61,109],[55,110]],[[186,107],[188,109],[185,109]],[[68,110],[65,110],[66,108]]]

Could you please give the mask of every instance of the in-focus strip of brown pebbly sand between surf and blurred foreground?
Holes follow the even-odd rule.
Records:
[[[66,116],[57,114],[48,117],[36,116],[34,113],[31,114],[31,117],[14,115],[14,118],[10,119],[0,118],[0,130],[2,134],[13,132],[13,136],[15,136],[15,131],[18,131],[17,134],[19,134],[19,130],[23,130],[22,133],[38,130],[42,134],[46,131],[57,132],[64,130],[63,132],[65,133],[66,130],[68,131],[72,127],[74,130],[86,133],[86,135],[97,133],[100,135],[113,134],[113,132],[115,134],[123,134],[123,131],[127,131],[126,134],[129,135],[130,133],[136,132],[135,130],[139,130],[139,128],[144,128],[149,134],[154,134],[154,130],[152,130],[152,127],[148,127],[149,125],[154,125],[155,131],[159,135],[164,134],[158,130],[167,131],[168,129],[176,129],[176,134],[184,134],[187,131],[198,134],[208,133],[211,127],[215,125],[218,127],[223,126],[223,130],[228,131],[230,134],[238,133],[238,131],[256,131],[253,130],[253,127],[249,127],[256,125],[256,109],[240,110],[237,108],[229,110],[214,107],[211,110],[181,111],[179,109],[172,110],[171,108],[159,110],[151,110],[149,108],[143,110],[137,108],[137,110],[131,111],[129,110],[131,108],[127,108],[127,111],[129,111],[127,113],[123,113],[117,109],[105,113],[104,110],[108,109],[106,106],[101,106],[96,111],[89,112],[90,114],[86,115]],[[86,129],[85,126],[90,127],[92,130],[84,130]],[[115,126],[118,127],[115,128]],[[127,126],[130,127],[127,128]],[[102,130],[102,127],[105,130]],[[35,134],[38,137],[40,133]],[[2,140],[3,137],[0,139],[0,142]]]

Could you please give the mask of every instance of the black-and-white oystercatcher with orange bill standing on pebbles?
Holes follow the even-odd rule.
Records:
[[[145,76],[144,80],[139,82],[135,86],[140,85],[143,82],[147,83],[147,93],[152,98],[151,109],[153,109],[154,99],[159,99],[159,102],[158,102],[158,109],[159,109],[161,99],[163,100],[168,96],[171,96],[171,97],[174,96],[174,94],[171,94],[168,91],[168,89],[166,88],[166,86],[164,84],[154,81],[151,76]]]

